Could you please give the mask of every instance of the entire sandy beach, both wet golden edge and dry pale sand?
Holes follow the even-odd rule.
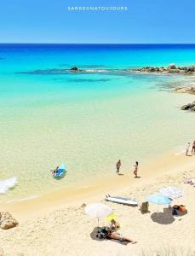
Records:
[[[195,188],[183,183],[186,177],[195,177],[194,158],[195,155],[169,153],[143,166],[139,179],[130,172],[120,177],[113,174],[83,189],[70,189],[69,193],[62,189],[29,201],[1,205],[1,210],[11,212],[20,224],[14,229],[0,230],[0,247],[10,256],[145,255],[143,252],[158,255],[152,252],[164,249],[169,251],[167,255],[194,255]],[[152,203],[150,212],[141,214],[139,207],[104,201],[104,195],[110,193],[133,197],[141,203],[146,201],[146,195],[163,186],[183,189],[184,196],[173,203],[185,205],[186,215],[173,217],[167,207]],[[112,207],[121,224],[119,232],[137,244],[95,238],[97,220],[89,218],[82,205],[98,201]],[[105,218],[100,219],[100,225],[106,224]]]

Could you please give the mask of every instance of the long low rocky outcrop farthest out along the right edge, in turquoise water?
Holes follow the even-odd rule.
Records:
[[[168,67],[140,67],[130,69],[129,71],[137,73],[181,73],[192,75],[195,74],[195,65],[176,67],[174,63],[171,63]]]

